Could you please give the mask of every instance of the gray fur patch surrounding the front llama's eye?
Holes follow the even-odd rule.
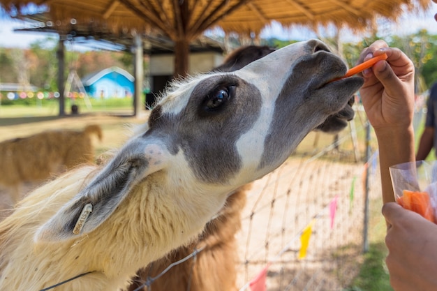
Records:
[[[209,110],[209,100],[222,88],[228,99]],[[258,119],[261,105],[260,91],[252,84],[233,74],[212,75],[196,85],[180,114],[160,112],[149,131],[165,130],[170,153],[182,149],[198,179],[225,184],[242,166],[236,142]]]

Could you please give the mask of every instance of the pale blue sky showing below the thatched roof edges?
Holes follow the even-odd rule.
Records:
[[[382,37],[390,36],[392,33],[401,35],[402,33],[414,33],[419,29],[427,29],[430,33],[437,34],[437,22],[434,20],[434,14],[437,13],[437,4],[431,3],[431,8],[427,13],[403,15],[399,20],[399,24],[382,22],[379,35]],[[13,31],[15,28],[22,27],[24,27],[24,22],[11,20],[4,15],[0,15],[0,47],[29,47],[29,44],[35,40],[42,40],[47,37],[47,33]],[[324,36],[329,36],[330,30],[321,29],[320,33],[323,33]],[[261,36],[263,38],[273,36],[281,39],[305,40],[316,37],[316,33],[305,27],[295,26],[290,29],[282,29],[279,24],[272,24],[262,32]],[[343,29],[341,31],[341,38],[344,41],[355,41],[362,38],[362,35],[357,36],[348,31],[348,29]]]

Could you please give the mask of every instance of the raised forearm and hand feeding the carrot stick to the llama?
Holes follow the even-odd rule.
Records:
[[[383,53],[378,61],[364,70],[360,89],[364,110],[378,140],[383,202],[394,201],[389,167],[415,161],[414,151],[414,66],[406,54],[377,40],[362,52],[361,61]]]

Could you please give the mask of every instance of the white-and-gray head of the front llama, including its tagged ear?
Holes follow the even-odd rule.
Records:
[[[193,204],[201,197],[223,203],[233,189],[279,167],[309,131],[347,105],[363,80],[330,82],[346,70],[325,44],[309,40],[233,73],[174,84],[143,132],[40,228],[36,240],[93,231],[123,211],[117,207],[133,188],[158,175],[165,176],[166,191],[189,193]],[[206,223],[222,206],[205,205],[209,217],[199,219]]]

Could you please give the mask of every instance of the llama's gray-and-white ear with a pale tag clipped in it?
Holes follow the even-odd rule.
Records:
[[[146,144],[145,144],[146,143]],[[149,174],[163,170],[170,154],[162,144],[137,138],[36,232],[35,241],[74,239],[110,217],[131,189]]]

